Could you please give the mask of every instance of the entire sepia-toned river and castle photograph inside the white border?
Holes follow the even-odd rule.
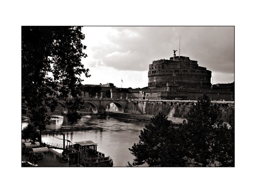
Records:
[[[21,26],[21,167],[235,167],[235,26]]]

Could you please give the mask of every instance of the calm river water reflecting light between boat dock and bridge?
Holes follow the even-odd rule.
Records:
[[[97,150],[109,155],[113,159],[115,167],[124,167],[127,162],[132,163],[135,158],[129,151],[134,143],[139,142],[140,130],[148,125],[148,122],[117,119],[110,117],[96,117],[83,114],[80,122],[73,125],[68,123],[67,117],[62,116],[60,111],[50,112],[52,117],[51,125],[47,130],[56,131],[54,134],[42,135],[44,143],[63,143],[63,140],[55,137],[65,138],[72,143],[79,141],[92,140],[98,143]],[[28,121],[22,121],[25,127]],[[147,166],[147,165],[143,165]]]

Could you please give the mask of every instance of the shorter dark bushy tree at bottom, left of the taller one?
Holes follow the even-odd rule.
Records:
[[[140,131],[139,143],[129,148],[136,158],[128,166],[139,166],[147,163],[149,166],[185,166],[180,129],[171,125],[172,121],[160,112],[151,118],[151,123]],[[177,149],[180,151],[178,152]]]

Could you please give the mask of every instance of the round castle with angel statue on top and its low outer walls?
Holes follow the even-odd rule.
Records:
[[[197,100],[207,94],[211,100],[232,101],[231,89],[217,89],[211,84],[212,72],[198,66],[189,57],[176,56],[155,60],[148,67],[148,87],[142,89],[111,89],[111,98],[149,100]]]

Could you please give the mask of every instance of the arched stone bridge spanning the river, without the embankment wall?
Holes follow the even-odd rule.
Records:
[[[127,112],[127,100],[124,98],[113,99],[113,98],[85,98],[83,97],[84,103],[89,104],[92,107],[94,113],[103,114],[106,113],[108,105],[114,103],[117,107],[118,112]],[[65,103],[62,100],[57,101],[63,108]]]

